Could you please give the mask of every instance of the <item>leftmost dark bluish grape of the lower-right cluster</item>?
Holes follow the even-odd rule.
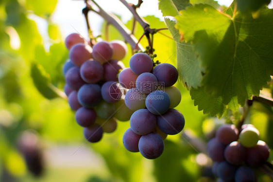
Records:
[[[216,162],[222,162],[224,161],[224,150],[225,146],[219,142],[217,138],[212,138],[207,143],[207,153],[208,156]]]

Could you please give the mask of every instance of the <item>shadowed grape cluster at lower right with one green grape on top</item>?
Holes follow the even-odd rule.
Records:
[[[259,131],[250,124],[241,127],[224,124],[207,144],[209,157],[214,161],[212,172],[218,181],[256,182],[253,168],[265,164],[269,147],[259,140]]]

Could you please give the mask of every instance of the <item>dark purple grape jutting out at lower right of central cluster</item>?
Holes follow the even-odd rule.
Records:
[[[185,118],[176,109],[169,109],[162,115],[157,115],[157,126],[168,135],[178,134],[185,126]]]

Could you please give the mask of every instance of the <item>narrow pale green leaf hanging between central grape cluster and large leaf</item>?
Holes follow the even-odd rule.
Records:
[[[180,81],[189,89],[201,86],[203,69],[200,65],[201,62],[197,59],[198,55],[193,50],[193,46],[190,43],[180,42],[179,32],[174,28],[175,21],[165,18],[165,22],[176,42],[177,69]]]

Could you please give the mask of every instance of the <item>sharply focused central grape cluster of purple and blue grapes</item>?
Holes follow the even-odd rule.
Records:
[[[178,134],[185,126],[183,114],[175,108],[181,100],[173,86],[178,72],[169,63],[157,64],[150,55],[136,53],[129,68],[119,73],[119,83],[127,89],[126,106],[133,110],[130,127],[123,134],[123,145],[147,159],[159,157],[167,135]]]

